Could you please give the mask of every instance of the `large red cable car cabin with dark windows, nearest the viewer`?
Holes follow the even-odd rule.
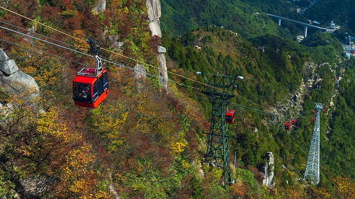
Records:
[[[72,81],[72,91],[76,106],[96,108],[109,94],[107,70],[99,73],[92,68],[80,70]]]

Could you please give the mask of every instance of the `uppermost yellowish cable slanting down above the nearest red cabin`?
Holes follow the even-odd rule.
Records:
[[[16,12],[14,12],[14,11],[11,11],[11,10],[9,10],[9,9],[7,9],[7,8],[4,8],[3,6],[0,6],[0,8],[3,8],[4,10],[9,11],[9,12],[11,12],[11,13],[14,13],[14,14],[16,14],[16,15],[18,15],[18,16],[23,17],[23,18],[26,18],[26,19],[28,19],[29,21],[33,21],[33,22],[35,22],[35,23],[38,23],[39,25],[43,25],[43,26],[45,26],[45,27],[47,27],[47,28],[50,28],[51,30],[55,30],[55,31],[57,31],[57,32],[59,32],[59,33],[62,33],[62,34],[64,34],[64,35],[67,35],[67,36],[69,36],[70,38],[74,38],[75,40],[78,40],[78,41],[81,41],[81,42],[85,42],[85,43],[86,43],[86,41],[84,41],[84,40],[81,40],[81,39],[79,39],[79,38],[75,38],[74,36],[69,35],[69,34],[67,34],[67,33],[63,33],[62,31],[57,30],[57,29],[55,29],[55,28],[51,28],[51,27],[48,26],[48,25],[45,25],[45,24],[40,23],[40,22],[38,22],[38,21],[35,21],[35,20],[31,19],[31,18],[28,18],[28,17],[26,17],[26,16],[23,16],[23,15],[21,15],[21,14],[19,14],[19,13],[16,13]],[[0,26],[0,28],[2,28],[2,27]],[[30,36],[30,35],[26,35],[26,36]],[[107,50],[107,49],[105,49],[105,48],[101,48],[101,49],[104,50],[104,51],[110,52],[111,54],[119,55],[119,56],[124,57],[124,58],[126,58],[126,59],[131,59],[131,60],[134,61],[134,62],[138,62],[138,63],[143,64],[143,65],[146,65],[146,66],[148,66],[148,67],[153,67],[153,68],[155,68],[155,69],[158,69],[159,71],[167,72],[167,73],[173,74],[173,75],[175,75],[175,76],[179,76],[179,77],[181,77],[181,78],[183,78],[183,79],[187,79],[187,80],[196,82],[197,84],[202,84],[202,85],[204,85],[204,86],[209,86],[209,87],[212,87],[212,88],[214,88],[214,89],[218,89],[218,90],[221,90],[221,91],[225,91],[225,90],[222,89],[222,88],[218,88],[218,87],[215,87],[215,86],[211,86],[211,85],[202,83],[202,82],[200,82],[200,81],[197,81],[197,80],[195,80],[195,79],[190,79],[190,78],[188,78],[188,77],[186,77],[186,76],[182,76],[182,75],[180,75],[180,74],[176,74],[176,73],[174,73],[174,72],[169,72],[167,69],[160,69],[159,67],[155,67],[155,66],[153,66],[152,64],[147,64],[146,62],[141,62],[141,61],[139,61],[138,59],[133,59],[133,58],[131,58],[131,57],[127,57],[127,56],[121,55],[121,54],[119,54],[119,53],[117,53],[117,52],[113,52],[113,51]],[[226,92],[227,92],[227,93],[231,93],[231,92],[229,92],[229,91],[226,91]],[[235,94],[235,95],[236,95],[236,96],[239,96],[238,94]],[[240,97],[240,98],[244,98],[243,96],[239,96],[239,97]],[[244,98],[244,99],[245,99],[246,101],[249,101],[249,99],[247,99],[247,98]],[[254,102],[251,101],[250,103],[254,103]],[[254,103],[254,104],[258,105],[257,103]],[[260,105],[258,105],[258,106],[260,106]]]

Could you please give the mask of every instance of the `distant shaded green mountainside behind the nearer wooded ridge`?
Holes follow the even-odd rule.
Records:
[[[253,38],[264,34],[278,34],[284,38],[295,39],[303,30],[302,25],[288,21],[278,27],[277,19],[266,13],[308,23],[317,21],[320,26],[327,27],[331,21],[341,26],[343,33],[354,35],[354,1],[317,1],[310,6],[309,0],[301,1],[184,1],[162,0],[162,29],[172,35],[183,35],[189,30],[203,26],[223,26],[228,30],[238,32],[244,38]],[[307,9],[305,9],[307,8]],[[305,11],[300,12],[300,10]],[[302,13],[302,14],[300,14]],[[275,23],[273,23],[273,21]],[[315,32],[309,28],[308,33]]]

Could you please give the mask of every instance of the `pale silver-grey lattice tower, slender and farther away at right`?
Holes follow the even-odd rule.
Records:
[[[315,119],[315,128],[313,130],[310,152],[308,153],[307,165],[305,170],[305,181],[310,181],[317,185],[320,183],[320,110],[323,103],[315,103],[317,108],[317,118]]]

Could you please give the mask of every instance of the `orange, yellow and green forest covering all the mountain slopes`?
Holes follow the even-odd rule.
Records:
[[[344,55],[342,33],[314,31],[296,42],[299,27],[253,15],[261,8],[283,15],[308,1],[275,1],[279,8],[274,1],[205,2],[162,0],[157,38],[142,0],[106,1],[104,11],[94,0],[1,1],[0,48],[40,95],[1,89],[0,197],[354,198],[355,61]],[[319,2],[305,16],[325,13],[330,1]],[[109,96],[97,108],[72,101],[72,80],[94,64],[87,38],[102,47],[109,71]],[[167,91],[157,78],[157,45],[166,48]],[[136,78],[136,64],[146,79]],[[229,102],[237,113],[227,127],[230,186],[221,185],[221,169],[202,164],[212,104],[197,71],[244,76]],[[324,112],[320,183],[312,185],[303,175],[315,103]],[[297,125],[284,130],[293,118]],[[272,187],[260,171],[267,152],[275,159]]]

